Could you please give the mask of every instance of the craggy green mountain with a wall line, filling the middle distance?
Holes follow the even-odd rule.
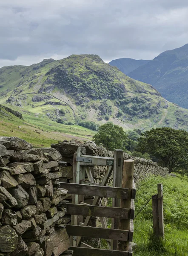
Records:
[[[188,130],[188,110],[97,55],[0,68],[0,104],[22,113],[26,122],[54,132],[62,127],[69,134],[78,129],[79,134],[77,124],[97,130],[97,125],[107,121],[125,129],[168,126]],[[84,128],[83,134],[92,136]]]

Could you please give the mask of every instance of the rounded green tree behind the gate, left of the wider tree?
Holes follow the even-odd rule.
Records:
[[[107,122],[99,127],[99,131],[94,135],[93,141],[97,145],[103,145],[108,150],[122,149],[126,150],[127,134],[123,128]]]

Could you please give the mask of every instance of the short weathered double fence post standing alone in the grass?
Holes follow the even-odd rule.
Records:
[[[163,193],[162,184],[157,184],[158,194],[152,198],[153,228],[156,237],[164,238],[164,215],[163,215]]]

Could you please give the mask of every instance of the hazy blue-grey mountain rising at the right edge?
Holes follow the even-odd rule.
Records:
[[[152,84],[165,99],[188,108],[188,44],[162,52],[128,76]]]

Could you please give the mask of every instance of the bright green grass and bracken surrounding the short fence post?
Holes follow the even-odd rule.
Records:
[[[165,239],[153,236],[152,203],[134,220],[134,256],[187,256],[188,255],[188,178],[149,177],[141,181],[135,200],[136,213],[157,193],[157,183],[163,184]]]

